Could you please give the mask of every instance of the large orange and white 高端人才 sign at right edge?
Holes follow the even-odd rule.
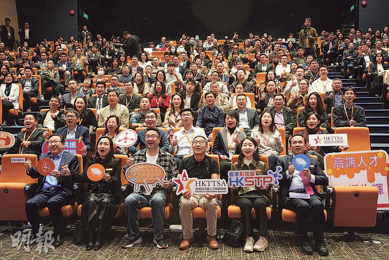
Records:
[[[375,186],[378,209],[389,209],[389,159],[384,150],[327,153],[325,174],[331,186]]]

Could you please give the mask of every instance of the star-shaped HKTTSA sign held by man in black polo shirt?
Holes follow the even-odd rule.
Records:
[[[226,180],[221,179],[197,179],[189,178],[186,170],[183,170],[181,174],[177,174],[177,178],[172,179],[178,187],[176,194],[188,190],[193,194],[227,194],[228,186]]]

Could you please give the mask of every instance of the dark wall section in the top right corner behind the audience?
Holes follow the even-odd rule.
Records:
[[[389,1],[388,0],[368,0],[368,5],[363,8],[362,0],[359,2],[359,29],[366,32],[371,26],[373,30],[382,30],[389,26]]]

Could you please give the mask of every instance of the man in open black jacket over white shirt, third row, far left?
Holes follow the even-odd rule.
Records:
[[[48,128],[56,132],[66,125],[65,111],[58,109],[59,102],[58,96],[52,96],[50,98],[50,109],[39,113],[36,117],[40,125],[39,127]]]

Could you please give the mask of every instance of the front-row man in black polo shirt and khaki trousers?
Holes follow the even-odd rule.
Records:
[[[218,179],[219,165],[217,161],[205,154],[207,150],[207,138],[201,135],[195,136],[192,142],[193,155],[181,161],[178,172],[185,169],[189,178]],[[199,206],[206,210],[207,220],[207,242],[211,249],[219,248],[215,239],[217,222],[217,201],[216,194],[192,194],[185,190],[179,200],[179,215],[181,219],[182,233],[184,240],[179,244],[180,249],[188,249],[193,244],[193,219],[192,209]]]

